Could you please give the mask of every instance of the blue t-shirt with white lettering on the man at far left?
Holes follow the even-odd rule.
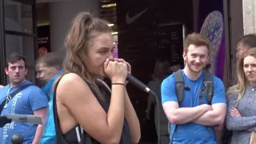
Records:
[[[29,81],[22,82],[21,85],[10,88],[10,84],[0,89],[0,103],[2,103],[9,94],[13,93],[20,86],[23,86]],[[48,106],[46,94],[38,86],[29,86],[26,89],[20,91],[8,102],[6,108],[2,110],[1,115],[5,114],[34,114],[34,110],[41,109]],[[0,143],[8,144],[13,134],[22,134],[24,138],[24,144],[30,144],[34,140],[34,134],[38,128],[37,124],[30,122],[15,122],[6,124],[0,129]]]

